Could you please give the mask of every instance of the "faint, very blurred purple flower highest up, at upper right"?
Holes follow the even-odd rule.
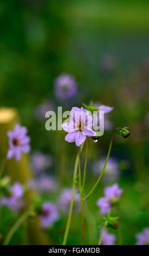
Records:
[[[103,72],[110,74],[115,69],[115,58],[105,54],[101,59],[100,68]]]

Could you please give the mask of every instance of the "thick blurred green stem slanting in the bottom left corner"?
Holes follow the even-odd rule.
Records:
[[[24,214],[17,220],[17,222],[13,225],[13,227],[10,229],[9,233],[5,237],[3,245],[8,245],[11,238],[13,237],[15,231],[20,227],[20,225],[27,219],[28,217],[28,211],[24,212]]]

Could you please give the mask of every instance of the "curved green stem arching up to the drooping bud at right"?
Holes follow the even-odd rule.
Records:
[[[109,159],[109,155],[110,155],[110,151],[111,151],[111,145],[112,145],[112,143],[113,143],[113,137],[114,137],[114,134],[115,134],[115,132],[116,132],[117,130],[122,130],[122,128],[116,128],[116,129],[114,130],[113,135],[111,136],[111,140],[110,140],[110,145],[109,145],[109,150],[108,150],[107,159],[105,160],[105,163],[104,163],[104,167],[103,167],[103,169],[102,169],[102,172],[101,172],[99,178],[97,179],[95,185],[92,187],[91,191],[90,191],[90,192],[88,193],[88,195],[84,198],[84,200],[87,200],[87,199],[91,196],[92,192],[95,190],[96,186],[98,185],[98,182],[99,182],[100,179],[102,178],[102,175],[103,175],[104,170],[105,170],[105,168],[106,168],[106,166],[107,166],[107,163],[108,163],[108,159]]]

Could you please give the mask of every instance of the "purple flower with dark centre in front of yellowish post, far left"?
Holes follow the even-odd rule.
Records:
[[[16,124],[14,130],[8,131],[7,135],[9,137],[7,159],[15,157],[19,161],[21,159],[21,153],[28,153],[30,151],[30,137],[27,136],[27,128]]]

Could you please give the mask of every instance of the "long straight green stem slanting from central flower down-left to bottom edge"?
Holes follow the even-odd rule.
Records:
[[[81,146],[80,151],[82,151],[82,149],[83,149],[83,144]],[[69,229],[70,229],[70,223],[71,223],[71,218],[72,218],[72,210],[73,210],[73,202],[74,202],[74,191],[75,191],[75,188],[76,188],[77,169],[78,169],[78,154],[77,154],[76,161],[75,161],[75,164],[74,164],[70,210],[69,210],[69,216],[68,216],[68,219],[67,219],[67,224],[66,224],[66,229],[65,229],[65,234],[64,234],[64,239],[63,239],[62,245],[66,245],[67,237],[68,237]]]

